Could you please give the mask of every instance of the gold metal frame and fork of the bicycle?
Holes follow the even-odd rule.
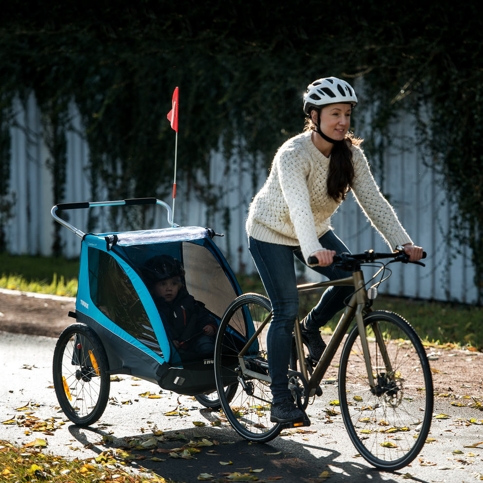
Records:
[[[294,326],[294,336],[295,336],[295,345],[297,348],[297,356],[298,360],[300,361],[300,372],[304,376],[305,380],[308,383],[309,387],[309,397],[314,396],[319,386],[324,374],[326,373],[328,366],[332,359],[334,358],[337,349],[339,348],[342,340],[344,339],[344,335],[346,334],[350,323],[352,320],[356,319],[357,327],[359,329],[359,335],[361,338],[362,350],[364,354],[364,360],[366,362],[366,369],[367,369],[367,378],[369,381],[369,386],[371,389],[375,390],[375,383],[374,383],[374,376],[372,373],[372,367],[370,364],[370,353],[369,353],[369,346],[367,344],[367,334],[364,328],[364,320],[363,320],[363,310],[368,307],[368,298],[367,298],[367,291],[365,289],[365,282],[364,282],[364,273],[362,270],[357,270],[352,273],[351,277],[340,278],[338,280],[328,280],[326,282],[319,282],[319,283],[311,283],[311,284],[304,284],[304,285],[297,285],[297,289],[299,292],[303,292],[306,290],[315,290],[324,287],[331,287],[331,286],[352,286],[355,288],[355,292],[352,294],[350,298],[350,302],[344,313],[342,314],[337,327],[334,329],[332,333],[332,337],[328,346],[322,357],[320,358],[319,362],[315,366],[311,377],[308,377],[308,369],[307,369],[307,362],[305,359],[304,353],[304,346],[302,343],[302,333],[300,330],[300,324],[298,317],[295,321]],[[245,361],[243,359],[244,355],[247,353],[248,349],[251,347],[255,339],[258,337],[260,332],[265,328],[265,326],[271,320],[272,312],[267,315],[264,321],[261,322],[260,326],[256,329],[255,333],[251,336],[250,340],[247,342],[245,347],[240,351],[238,354],[238,361],[240,363],[241,371],[244,375],[255,378],[261,379],[267,383],[271,383],[270,376],[266,376],[264,374],[260,374],[258,372],[252,371],[247,369],[245,366]],[[384,345],[384,339],[379,328],[379,324],[375,323],[372,325],[372,329],[374,331],[374,336],[376,339],[376,343],[381,350],[381,354],[386,366],[386,372],[391,372],[392,367],[389,361],[389,357],[387,356],[386,346]]]

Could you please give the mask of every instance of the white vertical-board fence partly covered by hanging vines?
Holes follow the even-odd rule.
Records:
[[[55,200],[52,174],[47,166],[49,153],[42,140],[39,108],[33,96],[26,105],[16,101],[14,107],[17,126],[11,129],[10,193],[16,203],[14,216],[6,227],[8,251],[12,254],[49,255],[54,241],[50,209]],[[91,199],[89,149],[80,134],[82,126],[76,112],[72,105],[73,129],[67,133],[67,180],[62,201],[99,201]],[[407,116],[393,126],[393,133],[405,143],[404,149],[395,146],[387,150],[384,173],[376,172],[375,177],[406,231],[415,243],[424,247],[428,258],[425,260],[426,268],[401,264],[390,266],[393,275],[383,284],[383,290],[394,295],[424,299],[475,302],[477,290],[473,282],[470,250],[463,247],[462,253],[457,253],[448,249],[446,237],[454,207],[447,203],[438,176],[423,164],[417,150],[412,149],[412,126],[414,122]],[[209,219],[206,205],[193,193],[186,192],[187,184],[178,180],[174,221],[185,226],[209,224],[216,232],[225,232],[225,237],[215,241],[233,270],[252,272],[255,268],[248,251],[244,225],[251,198],[263,185],[268,171],[258,170],[258,183],[253,187],[252,175],[242,168],[243,165],[234,157],[227,167],[220,154],[212,154],[209,181],[222,196],[217,211]],[[146,196],[154,195],[146,193]],[[86,231],[87,210],[68,213],[69,223]],[[230,220],[228,230],[225,226],[227,213]],[[370,248],[386,251],[388,248],[351,196],[341,205],[332,223],[336,234],[351,251]],[[166,216],[161,210],[155,217],[155,225],[166,226]],[[62,229],[61,234],[65,255],[71,258],[78,256],[80,239],[67,229]],[[311,276],[312,273],[306,270],[309,278],[318,280],[319,276],[315,273]]]

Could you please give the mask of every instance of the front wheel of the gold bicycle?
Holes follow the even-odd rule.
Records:
[[[386,311],[364,317],[375,388],[369,387],[357,325],[339,366],[339,401],[352,443],[368,463],[394,471],[425,444],[433,411],[433,381],[425,349],[401,316]]]

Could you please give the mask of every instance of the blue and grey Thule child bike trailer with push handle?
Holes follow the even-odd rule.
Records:
[[[146,275],[149,261],[159,255],[181,264],[181,282],[196,301],[195,306],[208,313],[211,325],[217,327],[241,290],[213,242],[216,233],[176,225],[156,230],[84,233],[56,214],[58,210],[141,204],[164,206],[171,225],[170,207],[155,198],[63,203],[52,208],[54,219],[82,239],[76,311],[69,312],[76,323],[61,333],[53,361],[58,402],[77,425],[91,425],[100,418],[114,374],[139,377],[163,389],[195,396],[204,406],[219,407],[213,346],[209,352],[190,350],[201,335],[195,333],[193,323],[197,314],[184,321],[182,340],[173,343],[173,326],[157,309]],[[230,382],[225,389],[227,398],[238,384],[236,379]]]

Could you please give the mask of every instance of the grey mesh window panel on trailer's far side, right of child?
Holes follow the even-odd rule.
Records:
[[[236,297],[230,280],[212,252],[194,243],[183,242],[186,288],[218,319]]]

